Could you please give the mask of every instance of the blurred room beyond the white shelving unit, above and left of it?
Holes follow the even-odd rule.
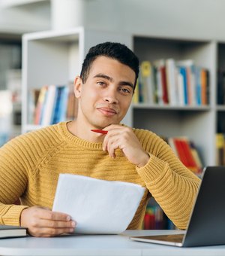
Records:
[[[224,40],[223,0],[0,0],[0,143],[21,133],[22,35],[84,26]],[[10,114],[11,113],[11,114]]]

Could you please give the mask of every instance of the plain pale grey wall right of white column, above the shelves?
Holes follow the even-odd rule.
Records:
[[[93,29],[225,40],[224,0],[94,0],[86,6]]]

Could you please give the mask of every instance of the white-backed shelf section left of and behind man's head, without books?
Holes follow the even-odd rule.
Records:
[[[28,91],[74,81],[89,48],[102,41],[121,41],[132,47],[130,35],[93,32],[83,27],[23,35],[23,133],[40,128],[28,123]]]

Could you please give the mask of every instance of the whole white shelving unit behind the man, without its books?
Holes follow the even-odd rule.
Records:
[[[26,34],[23,36],[23,133],[40,127],[28,123],[28,90],[40,88],[44,84],[67,84],[73,81],[80,74],[89,47],[103,41],[126,44],[139,56],[140,61],[193,59],[197,66],[209,70],[209,105],[132,105],[124,123],[152,130],[161,136],[188,136],[199,149],[205,166],[214,165],[217,122],[219,118],[225,117],[225,108],[216,105],[217,66],[222,66],[225,58],[223,42],[99,32],[83,27]],[[218,49],[223,52],[224,58],[217,57]]]

